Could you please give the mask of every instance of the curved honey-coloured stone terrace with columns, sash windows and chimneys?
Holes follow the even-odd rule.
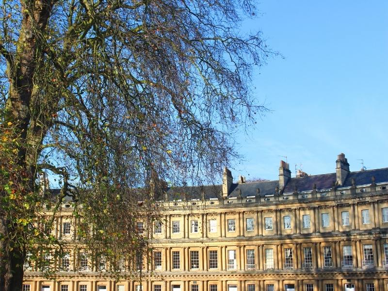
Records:
[[[350,172],[344,154],[316,176],[291,178],[281,161],[278,180],[233,183],[225,169],[222,185],[167,192],[141,282],[114,282],[74,253],[56,282],[27,266],[23,290],[388,291],[387,187],[388,168]],[[71,241],[64,209],[56,235]]]

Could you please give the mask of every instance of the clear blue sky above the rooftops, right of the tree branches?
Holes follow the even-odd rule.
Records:
[[[279,51],[254,72],[254,95],[271,109],[237,136],[244,160],[232,175],[277,179],[286,158],[310,175],[388,167],[388,1],[260,0],[243,31]]]

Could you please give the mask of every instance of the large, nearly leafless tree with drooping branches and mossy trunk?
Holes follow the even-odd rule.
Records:
[[[61,185],[53,213],[72,195],[119,245],[123,234],[103,234],[112,210],[136,215],[138,193],[123,189],[151,201],[157,181],[211,179],[238,156],[233,129],[265,110],[251,69],[272,53],[259,32],[240,35],[254,11],[249,0],[2,1],[0,291],[21,290],[32,246],[56,243],[37,227],[52,203],[42,171]]]

